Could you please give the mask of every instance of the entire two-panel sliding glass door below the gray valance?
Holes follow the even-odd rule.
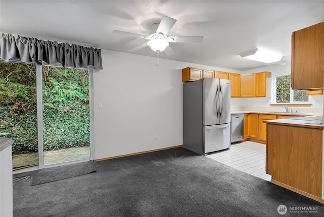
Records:
[[[92,72],[0,62],[0,135],[13,169],[91,159]]]

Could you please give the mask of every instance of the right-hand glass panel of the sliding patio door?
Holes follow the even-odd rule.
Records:
[[[44,164],[90,158],[88,69],[43,66]]]

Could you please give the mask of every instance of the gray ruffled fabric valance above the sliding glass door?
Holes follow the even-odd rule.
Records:
[[[60,63],[64,67],[92,65],[102,69],[101,49],[0,33],[0,58],[5,61],[14,58],[39,65],[44,61],[50,65]]]

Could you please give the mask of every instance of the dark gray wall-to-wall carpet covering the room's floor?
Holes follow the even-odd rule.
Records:
[[[183,148],[95,162],[94,173],[14,182],[14,216],[323,216],[324,206]],[[22,174],[21,174],[22,175]],[[24,175],[31,175],[33,172]],[[318,207],[280,215],[279,205]]]

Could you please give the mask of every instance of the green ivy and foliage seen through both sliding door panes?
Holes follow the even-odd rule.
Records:
[[[0,62],[0,132],[13,154],[38,151],[35,65]],[[89,146],[87,69],[43,66],[44,150]]]

